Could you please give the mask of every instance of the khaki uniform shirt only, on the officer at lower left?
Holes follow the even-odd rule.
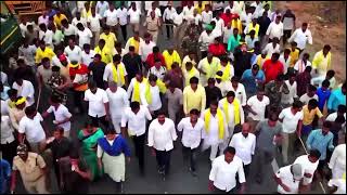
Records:
[[[20,156],[13,158],[12,170],[18,170],[24,181],[35,182],[43,176],[41,169],[44,167],[46,162],[42,156],[29,152],[25,161]]]

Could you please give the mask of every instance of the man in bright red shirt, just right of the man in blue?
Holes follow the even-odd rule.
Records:
[[[279,61],[280,54],[273,53],[271,58],[265,61],[262,65],[262,70],[265,73],[266,83],[268,83],[271,80],[274,80],[278,75],[283,74],[284,66]]]

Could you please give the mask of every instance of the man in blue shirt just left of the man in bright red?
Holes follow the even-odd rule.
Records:
[[[243,73],[241,82],[244,84],[247,96],[253,96],[257,93],[257,86],[265,82],[265,75],[259,65],[254,64],[250,69]]]

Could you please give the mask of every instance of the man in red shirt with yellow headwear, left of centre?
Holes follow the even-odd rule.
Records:
[[[74,103],[76,105],[75,113],[83,113],[82,95],[88,89],[89,69],[85,64],[73,61],[69,64],[69,76],[73,81]]]

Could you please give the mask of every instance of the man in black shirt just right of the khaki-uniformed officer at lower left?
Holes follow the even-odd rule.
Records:
[[[54,172],[59,185],[61,183],[61,178],[57,160],[62,157],[68,156],[72,148],[70,141],[63,134],[64,128],[56,127],[53,132],[54,138],[48,139],[46,145],[46,148],[50,148],[52,151]]]

